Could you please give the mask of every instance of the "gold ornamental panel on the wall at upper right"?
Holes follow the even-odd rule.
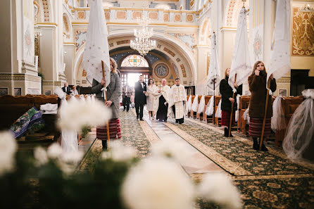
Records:
[[[314,56],[314,11],[294,7],[291,56]]]

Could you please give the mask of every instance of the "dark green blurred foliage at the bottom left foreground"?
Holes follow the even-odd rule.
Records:
[[[0,208],[125,209],[120,188],[137,159],[99,160],[94,172],[66,175],[58,160],[36,167],[32,156],[16,156],[17,169],[0,176]]]

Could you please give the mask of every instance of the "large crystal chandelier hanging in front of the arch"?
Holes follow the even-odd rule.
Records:
[[[141,25],[139,30],[134,29],[134,40],[131,40],[131,49],[139,51],[142,56],[156,48],[156,41],[151,40],[153,36],[153,28],[149,25],[149,18],[143,16],[142,19],[137,18],[137,22]]]

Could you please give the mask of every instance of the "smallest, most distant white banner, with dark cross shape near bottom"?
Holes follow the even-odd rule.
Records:
[[[211,61],[208,69],[207,87],[214,90],[220,84],[220,65],[218,61],[216,34],[211,37]]]

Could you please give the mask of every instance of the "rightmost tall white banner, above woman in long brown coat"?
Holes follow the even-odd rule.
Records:
[[[274,42],[268,68],[267,81],[271,74],[279,79],[291,69],[290,62],[290,0],[277,0]],[[266,87],[267,87],[266,82]]]

